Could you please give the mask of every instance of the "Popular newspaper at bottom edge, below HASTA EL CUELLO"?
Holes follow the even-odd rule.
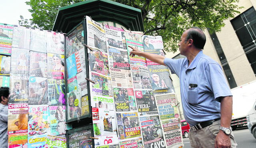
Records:
[[[120,148],[144,148],[142,138],[133,138],[119,142]]]

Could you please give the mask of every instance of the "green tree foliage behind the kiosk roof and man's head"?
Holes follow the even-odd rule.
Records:
[[[58,8],[83,0],[30,0],[31,23],[50,30]],[[224,20],[234,17],[240,9],[238,0],[113,0],[142,11],[144,32],[163,37],[166,51],[176,51],[184,30],[197,26],[218,32]]]

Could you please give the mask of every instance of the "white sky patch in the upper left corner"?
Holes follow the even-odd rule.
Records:
[[[1,12],[0,23],[19,25],[20,15],[24,19],[32,18],[31,13],[28,12],[30,6],[26,5],[29,0],[0,0]]]

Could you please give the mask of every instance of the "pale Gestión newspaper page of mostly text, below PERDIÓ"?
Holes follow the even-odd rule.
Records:
[[[132,87],[131,71],[110,67],[112,87]]]

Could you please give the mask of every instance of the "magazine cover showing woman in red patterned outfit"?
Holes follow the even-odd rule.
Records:
[[[48,78],[64,79],[64,55],[47,53]]]

